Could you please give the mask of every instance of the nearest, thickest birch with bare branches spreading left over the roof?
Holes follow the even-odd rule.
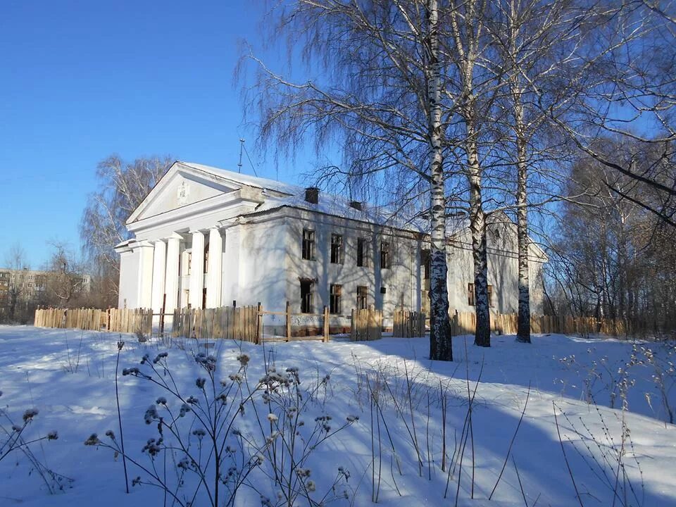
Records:
[[[452,360],[444,154],[455,104],[442,95],[447,59],[439,32],[448,11],[438,0],[277,6],[273,41],[286,39],[291,59],[302,56],[317,77],[294,81],[250,56],[258,71],[244,92],[260,118],[261,148],[275,144],[293,154],[311,139],[318,154],[341,152],[348,180],[380,178],[387,188],[392,173],[404,170],[409,188],[424,184],[432,257],[430,357],[442,361]]]

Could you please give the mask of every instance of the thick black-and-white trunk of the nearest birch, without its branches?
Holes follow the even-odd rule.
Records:
[[[437,0],[427,1],[429,35],[427,51],[427,101],[430,122],[430,359],[453,361],[449,292],[446,282],[446,192],[444,189],[444,156],[442,152],[441,68],[439,65],[439,32]]]

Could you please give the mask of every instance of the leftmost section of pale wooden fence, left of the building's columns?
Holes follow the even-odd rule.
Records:
[[[56,327],[109,332],[142,332],[151,334],[153,312],[143,308],[38,308],[35,327]]]

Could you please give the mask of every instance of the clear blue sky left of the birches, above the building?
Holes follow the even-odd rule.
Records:
[[[170,155],[237,170],[244,137],[233,70],[246,39],[259,52],[264,2],[0,2],[0,265],[20,243],[33,268],[50,240],[79,248],[96,164]],[[273,56],[273,58],[276,58]],[[306,163],[295,165],[303,170]],[[297,175],[280,165],[280,179]],[[243,170],[251,173],[244,158]]]

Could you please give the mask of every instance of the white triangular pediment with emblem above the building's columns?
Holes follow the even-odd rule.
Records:
[[[175,162],[130,215],[127,223],[161,215],[242,188],[236,182]]]

